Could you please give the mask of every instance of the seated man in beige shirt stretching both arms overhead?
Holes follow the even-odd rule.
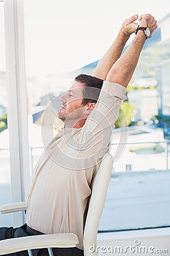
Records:
[[[27,203],[27,224],[1,228],[0,240],[50,233],[75,233],[75,248],[53,249],[54,255],[83,255],[83,228],[91,180],[109,151],[114,122],[139,55],[156,29],[150,14],[126,19],[93,76],[79,75],[65,96],[58,117],[64,129],[45,147],[35,167]],[[146,29],[147,27],[147,29]],[[148,30],[149,28],[149,30]],[[135,38],[123,55],[129,36]],[[148,33],[148,34],[147,34]],[[105,80],[103,82],[103,80]],[[26,255],[20,252],[19,255]],[[46,249],[34,251],[46,255]]]

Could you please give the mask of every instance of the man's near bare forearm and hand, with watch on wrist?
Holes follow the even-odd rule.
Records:
[[[139,26],[148,27],[150,29],[150,38],[152,36],[152,32],[158,27],[155,18],[151,16],[151,14],[141,15],[139,17]],[[124,54],[116,61],[116,63],[114,63],[106,80],[116,82],[126,87],[129,84],[135,67],[137,66],[145,41],[145,32],[139,30],[128,49],[126,49]]]

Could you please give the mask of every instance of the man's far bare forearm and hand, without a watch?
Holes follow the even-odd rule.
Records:
[[[138,26],[134,21],[138,15],[133,15],[129,19],[124,20],[121,29],[118,32],[117,38],[114,40],[112,46],[108,49],[105,55],[101,58],[94,72],[94,76],[105,80],[112,68],[113,64],[121,56],[126,42],[131,34],[133,34]]]

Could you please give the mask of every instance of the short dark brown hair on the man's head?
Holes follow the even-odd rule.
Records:
[[[84,106],[90,102],[96,103],[104,80],[86,74],[80,74],[74,80],[84,84],[82,105]]]

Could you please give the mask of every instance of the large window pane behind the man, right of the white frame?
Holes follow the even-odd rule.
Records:
[[[76,75],[79,73],[91,75],[94,72],[99,58],[105,52],[104,47],[111,45],[118,27],[114,31],[112,26],[112,35],[111,29],[108,31],[111,38],[101,36],[100,30],[104,28],[103,31],[107,36],[105,31],[109,28],[107,23],[116,24],[117,20],[122,22],[128,17],[127,10],[122,20],[120,14],[115,19],[111,13],[107,14],[107,10],[113,10],[113,1],[108,5],[104,1],[101,2],[99,5],[105,7],[103,9],[105,11],[101,10],[101,13],[100,10],[96,13],[96,7],[92,2],[90,7],[83,6],[87,13],[79,11],[78,2],[76,4],[74,1],[67,2],[67,9],[63,3],[65,2],[53,0],[24,1],[32,171],[43,150],[41,121],[46,106],[54,97],[69,88]],[[104,23],[106,26],[100,23],[104,13],[107,16],[102,22],[107,20]],[[170,168],[169,141],[166,141],[164,136],[163,116],[170,115],[169,94],[164,96],[164,93],[169,93],[164,86],[169,84],[165,81],[169,77],[164,76],[164,73],[168,74],[168,72],[165,72],[161,64],[165,58],[168,58],[170,47],[169,40],[167,43],[160,42],[160,32],[159,27],[152,40],[146,42],[138,67],[128,86],[128,100],[122,103],[120,118],[113,131],[111,154],[115,156],[120,144],[120,130],[123,134],[128,123],[128,141],[124,142],[122,151],[114,161],[112,179],[100,221],[101,230],[150,228],[150,226],[169,225],[170,222],[169,172],[167,171],[167,168]],[[84,38],[89,39],[86,40],[86,45]],[[55,114],[56,109],[59,109],[58,102],[52,104],[52,108],[49,109],[50,117]],[[54,128],[57,133],[62,123],[57,120],[57,124],[53,126],[48,120],[44,125],[46,129]],[[158,180],[160,180],[159,185]],[[162,191],[167,203],[163,201]],[[159,204],[159,201],[162,203]],[[157,215],[153,217],[156,207],[162,209],[159,211],[159,218]],[[165,215],[163,211],[166,211]]]

